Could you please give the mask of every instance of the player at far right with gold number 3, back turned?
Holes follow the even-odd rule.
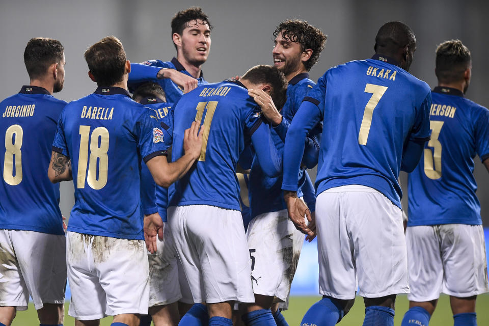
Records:
[[[489,110],[467,99],[471,56],[459,40],[437,48],[431,140],[409,175],[406,229],[410,309],[402,326],[428,326],[441,292],[455,326],[476,325],[477,294],[489,291],[474,157],[489,170]]]

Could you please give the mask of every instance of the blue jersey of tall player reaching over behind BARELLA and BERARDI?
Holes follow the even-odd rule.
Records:
[[[161,68],[175,69],[192,77],[182,64],[178,62],[177,58],[173,58],[172,61],[150,60],[142,64],[131,64],[131,72],[127,83],[129,89],[135,89],[141,83],[151,80],[158,83],[165,91],[168,102],[175,103],[183,95],[183,89],[173,83],[170,78],[157,79],[156,75]],[[202,71],[199,78],[197,78],[197,83],[198,85],[207,84]]]

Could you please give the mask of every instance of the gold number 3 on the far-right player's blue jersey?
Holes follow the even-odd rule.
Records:
[[[442,177],[442,143],[438,140],[440,131],[442,131],[444,121],[430,121],[429,128],[431,129],[431,139],[428,142],[428,147],[424,149],[424,174],[432,180],[437,180]]]

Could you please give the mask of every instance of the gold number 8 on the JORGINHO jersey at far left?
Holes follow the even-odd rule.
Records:
[[[4,180],[10,185],[17,185],[22,181],[22,152],[20,148],[22,147],[23,134],[24,131],[18,124],[11,125],[5,132]]]

